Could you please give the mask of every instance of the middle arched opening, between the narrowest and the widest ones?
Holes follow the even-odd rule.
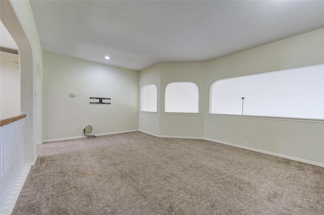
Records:
[[[173,82],[167,85],[165,112],[198,113],[198,86],[192,82]]]

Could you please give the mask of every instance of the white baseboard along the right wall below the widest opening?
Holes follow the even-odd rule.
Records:
[[[217,142],[217,143],[221,143],[221,144],[225,144],[225,145],[230,145],[230,146],[234,146],[234,147],[238,147],[238,148],[244,148],[244,149],[248,149],[251,151],[256,151],[256,152],[260,152],[260,153],[264,153],[264,154],[273,155],[276,157],[282,157],[282,158],[286,158],[286,159],[290,159],[290,160],[295,160],[298,162],[311,164],[311,165],[315,165],[315,166],[319,166],[319,167],[324,167],[324,163],[322,164],[319,162],[313,162],[312,160],[306,160],[306,159],[302,159],[302,158],[298,158],[298,157],[293,157],[293,156],[279,154],[279,153],[275,153],[275,152],[271,152],[271,151],[265,151],[265,150],[261,150],[261,149],[251,148],[248,146],[237,145],[237,144],[228,143],[228,142],[224,142],[224,141],[220,141],[220,140],[214,140],[214,139],[210,139],[210,138],[205,138],[205,140],[209,140],[212,142]]]

